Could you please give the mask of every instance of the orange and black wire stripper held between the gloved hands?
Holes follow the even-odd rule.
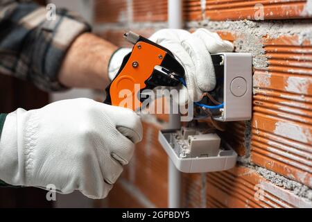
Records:
[[[124,37],[134,46],[105,89],[104,103],[138,110],[147,99],[141,97],[144,89],[179,85],[179,78],[184,77],[184,68],[163,46],[132,32],[125,33]]]

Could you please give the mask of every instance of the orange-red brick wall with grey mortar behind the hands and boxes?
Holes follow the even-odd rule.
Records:
[[[224,133],[240,156],[237,167],[183,174],[182,205],[312,207],[312,2],[201,2],[184,0],[186,28],[218,31],[236,51],[253,55],[253,114],[250,122],[227,124]],[[166,13],[165,0],[98,0],[95,31],[127,46],[123,32],[149,36],[166,27]],[[162,124],[156,122],[168,119],[148,119],[153,121],[144,123],[144,141],[109,196],[111,207],[167,206],[168,163],[157,142]]]

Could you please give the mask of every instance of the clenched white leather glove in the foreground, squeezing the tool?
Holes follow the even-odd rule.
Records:
[[[132,110],[71,99],[8,114],[0,140],[0,179],[10,185],[105,198],[142,137]]]

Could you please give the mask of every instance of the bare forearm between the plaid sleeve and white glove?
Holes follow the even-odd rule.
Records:
[[[117,46],[92,33],[76,38],[60,69],[60,83],[67,87],[104,89],[108,83],[108,62]]]

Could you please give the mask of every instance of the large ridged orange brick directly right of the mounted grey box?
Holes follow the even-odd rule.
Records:
[[[268,69],[254,72],[252,162],[312,186],[312,47],[298,37],[264,43]]]

